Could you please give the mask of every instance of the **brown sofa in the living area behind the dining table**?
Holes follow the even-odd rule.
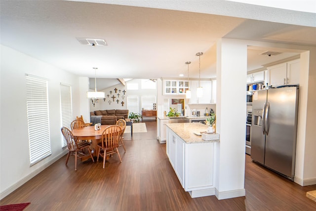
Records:
[[[102,116],[101,125],[115,125],[119,119],[128,118],[128,110],[111,109],[90,112],[90,116]]]

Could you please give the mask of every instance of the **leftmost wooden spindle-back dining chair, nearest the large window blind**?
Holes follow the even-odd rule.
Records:
[[[68,149],[68,155],[66,159],[66,166],[69,160],[69,157],[71,155],[75,156],[75,170],[77,170],[77,159],[83,158],[87,156],[87,154],[84,153],[84,149],[87,149],[92,161],[94,162],[93,156],[91,154],[91,150],[89,148],[90,143],[88,142],[77,142],[76,138],[74,137],[73,133],[68,129],[67,127],[62,127],[61,132],[63,133],[63,136],[65,137],[67,141],[67,149]]]

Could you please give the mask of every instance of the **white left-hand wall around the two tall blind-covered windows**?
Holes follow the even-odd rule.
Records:
[[[60,131],[60,83],[71,84],[73,105],[79,105],[79,77],[0,45],[0,193],[8,195],[66,153]],[[25,74],[48,80],[52,155],[30,167]],[[79,107],[74,106],[74,114]],[[76,116],[75,116],[76,117]]]

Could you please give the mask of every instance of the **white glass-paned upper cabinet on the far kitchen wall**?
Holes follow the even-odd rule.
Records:
[[[188,81],[163,80],[163,94],[185,94],[188,89]]]

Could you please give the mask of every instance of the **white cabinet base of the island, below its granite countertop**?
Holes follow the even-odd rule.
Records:
[[[191,197],[214,189],[214,143],[186,143],[167,127],[166,153],[185,191]]]

